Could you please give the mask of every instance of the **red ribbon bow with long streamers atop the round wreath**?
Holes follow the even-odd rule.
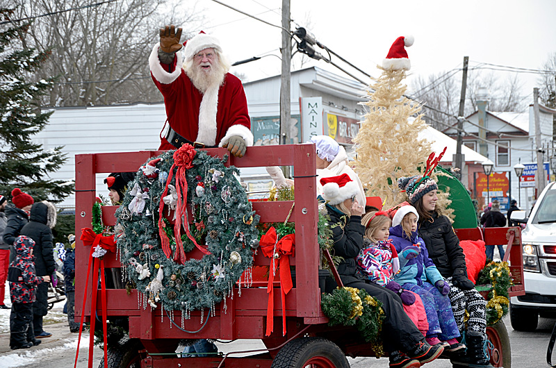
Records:
[[[183,146],[179,147],[174,152],[174,165],[170,168],[170,174],[168,175],[168,179],[166,181],[166,187],[164,188],[164,192],[161,195],[161,202],[158,206],[158,212],[163,213],[164,208],[164,201],[163,198],[167,195],[168,192],[168,185],[172,181],[172,177],[174,176],[174,168],[176,169],[176,192],[178,194],[178,201],[176,204],[176,222],[174,224],[174,235],[176,237],[176,251],[174,253],[174,262],[179,262],[183,265],[186,262],[186,252],[183,251],[183,243],[181,242],[181,221],[184,218],[186,223],[184,224],[184,228],[186,228],[186,234],[189,240],[197,246],[199,251],[202,251],[205,254],[211,254],[211,252],[204,249],[202,246],[197,244],[195,241],[195,237],[191,235],[189,232],[189,221],[187,219],[187,178],[186,172],[188,169],[193,167],[193,158],[197,151],[193,149],[193,146],[190,144],[183,144]],[[168,239],[168,235],[164,231],[164,227],[166,224],[164,223],[164,217],[161,216],[158,219],[158,234],[161,237],[161,245],[162,250],[167,258],[172,256],[172,249],[170,248],[170,240]]]

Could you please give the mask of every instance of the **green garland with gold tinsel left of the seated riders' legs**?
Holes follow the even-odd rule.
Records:
[[[371,344],[375,354],[382,356],[382,302],[364,289],[336,287],[332,294],[322,294],[322,312],[329,319],[329,326],[356,326],[363,341]]]

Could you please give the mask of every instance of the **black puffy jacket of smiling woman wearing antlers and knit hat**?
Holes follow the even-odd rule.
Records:
[[[450,219],[434,215],[419,225],[418,232],[425,241],[429,257],[442,276],[460,275],[467,278],[464,250],[452,228]]]

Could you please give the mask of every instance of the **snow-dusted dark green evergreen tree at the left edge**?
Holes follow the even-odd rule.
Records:
[[[9,21],[13,10],[0,8],[0,20]],[[33,74],[49,53],[28,49],[19,40],[30,24],[6,23],[0,28],[0,194],[10,196],[14,187],[35,201],[61,201],[73,183],[54,181],[49,173],[67,160],[62,147],[44,151],[32,141],[52,112],[41,112],[37,101],[51,88],[53,78],[33,81]]]

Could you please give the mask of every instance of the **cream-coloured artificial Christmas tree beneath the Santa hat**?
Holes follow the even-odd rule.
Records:
[[[418,138],[427,128],[420,106],[403,96],[405,70],[378,68],[382,75],[370,85],[368,113],[354,139],[359,146],[355,169],[367,195],[380,196],[390,208],[403,201],[398,178],[423,172],[431,145]]]

